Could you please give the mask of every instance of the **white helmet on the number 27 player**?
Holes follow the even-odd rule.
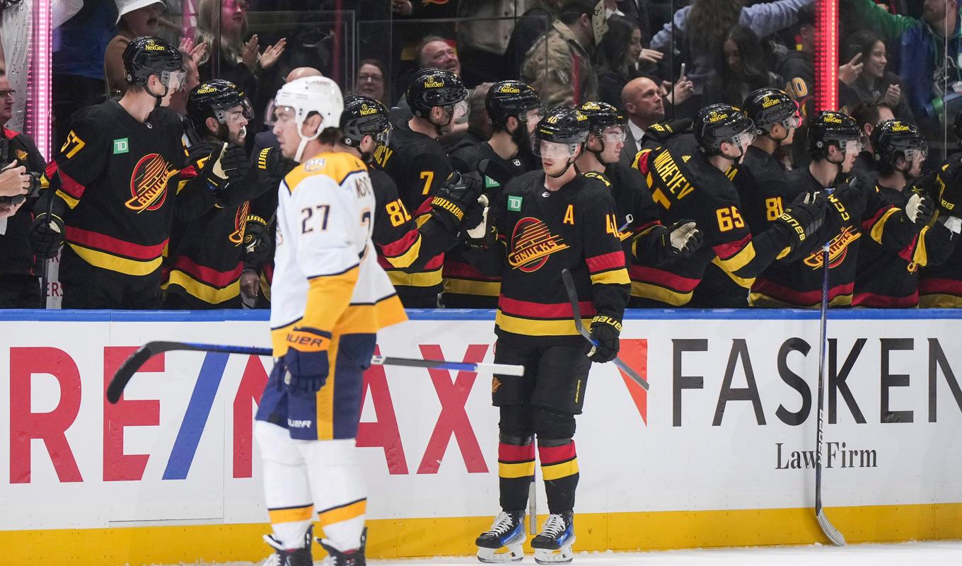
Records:
[[[300,162],[304,147],[316,140],[325,128],[337,128],[341,124],[344,99],[338,84],[327,77],[302,77],[281,87],[274,96],[274,108],[290,108],[297,124],[297,135],[301,142],[297,146],[294,161]],[[313,136],[305,136],[302,131],[304,121],[312,113],[321,117],[320,127]]]

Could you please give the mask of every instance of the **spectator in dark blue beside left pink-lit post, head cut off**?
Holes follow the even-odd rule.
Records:
[[[54,30],[54,147],[63,145],[70,115],[104,101],[104,53],[116,35],[115,20],[113,2],[87,2]]]

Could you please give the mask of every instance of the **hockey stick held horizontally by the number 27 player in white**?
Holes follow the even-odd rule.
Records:
[[[255,356],[271,356],[274,350],[269,347],[221,346],[216,344],[195,344],[191,342],[148,342],[139,347],[124,360],[120,368],[114,373],[110,385],[107,387],[107,400],[117,402],[123,394],[124,387],[152,356],[165,351],[213,351],[220,353],[239,353]],[[508,364],[471,364],[468,362],[448,362],[444,360],[418,360],[415,358],[395,358],[392,356],[371,356],[372,366],[406,366],[409,368],[427,368],[438,370],[456,370],[460,372],[500,373],[502,375],[523,375],[524,366]]]

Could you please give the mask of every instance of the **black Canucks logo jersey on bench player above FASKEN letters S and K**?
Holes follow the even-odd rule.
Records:
[[[801,193],[824,191],[808,167],[786,174],[789,200]],[[822,302],[822,244],[829,242],[828,300],[832,306],[851,304],[855,288],[859,241],[868,237],[889,249],[902,252],[914,246],[919,228],[900,209],[885,202],[873,186],[828,197],[825,222],[809,236],[806,246],[796,249],[799,261],[779,262],[759,276],[748,298],[752,306],[815,307]],[[834,209],[834,210],[832,210]],[[837,214],[836,214],[837,213]],[[908,251],[911,257],[911,251]]]

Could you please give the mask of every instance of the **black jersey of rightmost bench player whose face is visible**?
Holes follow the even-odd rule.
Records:
[[[911,193],[876,185],[882,200],[904,209]],[[858,250],[852,306],[915,308],[919,306],[919,269],[949,259],[952,233],[941,222],[925,226],[914,242],[900,251],[865,239]]]

